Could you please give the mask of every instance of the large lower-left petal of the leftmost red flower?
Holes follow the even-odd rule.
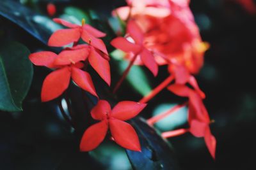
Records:
[[[64,67],[50,73],[43,83],[41,93],[42,101],[51,101],[59,97],[68,88],[70,74],[69,67]]]

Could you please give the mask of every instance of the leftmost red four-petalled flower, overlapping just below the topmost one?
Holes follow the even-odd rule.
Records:
[[[93,96],[97,96],[92,78],[89,73],[81,70],[84,64],[80,62],[85,60],[89,53],[94,54],[95,50],[91,50],[90,52],[90,48],[82,47],[84,45],[63,50],[59,55],[53,52],[36,52],[29,55],[29,59],[36,66],[56,69],[44,80],[41,93],[43,102],[59,97],[68,88],[70,78],[83,90],[90,92]],[[89,56],[99,58],[97,55],[91,54]],[[102,57],[100,56],[100,58]]]

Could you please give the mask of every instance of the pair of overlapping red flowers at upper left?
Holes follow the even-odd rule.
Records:
[[[60,96],[67,88],[70,78],[81,89],[97,96],[92,78],[89,73],[83,71],[84,64],[89,62],[100,77],[110,85],[109,57],[106,46],[99,39],[105,36],[88,24],[71,24],[59,18],[55,22],[63,24],[70,29],[60,29],[54,32],[49,39],[49,46],[64,46],[74,43],[72,48],[65,48],[59,55],[53,52],[36,52],[29,55],[29,59],[36,66],[45,66],[56,69],[44,80],[42,86],[42,101],[50,101]],[[82,38],[88,45],[77,45]]]

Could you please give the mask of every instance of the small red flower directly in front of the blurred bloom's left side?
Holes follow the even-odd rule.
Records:
[[[127,38],[118,37],[113,39],[111,45],[126,53],[132,53],[133,57],[139,56],[142,63],[156,76],[158,66],[154,55],[143,45],[143,32],[133,20],[130,20],[127,24],[127,36]],[[134,43],[128,41],[128,39],[131,39]]]

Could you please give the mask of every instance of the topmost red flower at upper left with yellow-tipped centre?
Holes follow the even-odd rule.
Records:
[[[60,29],[54,32],[48,41],[49,46],[64,46],[77,42],[80,38],[82,38],[86,43],[108,54],[106,46],[104,45],[103,41],[99,39],[106,36],[105,33],[100,32],[91,25],[84,24],[83,21],[82,25],[80,26],[65,20],[61,20],[60,18],[54,18],[53,20],[58,24],[68,27],[68,29]]]

